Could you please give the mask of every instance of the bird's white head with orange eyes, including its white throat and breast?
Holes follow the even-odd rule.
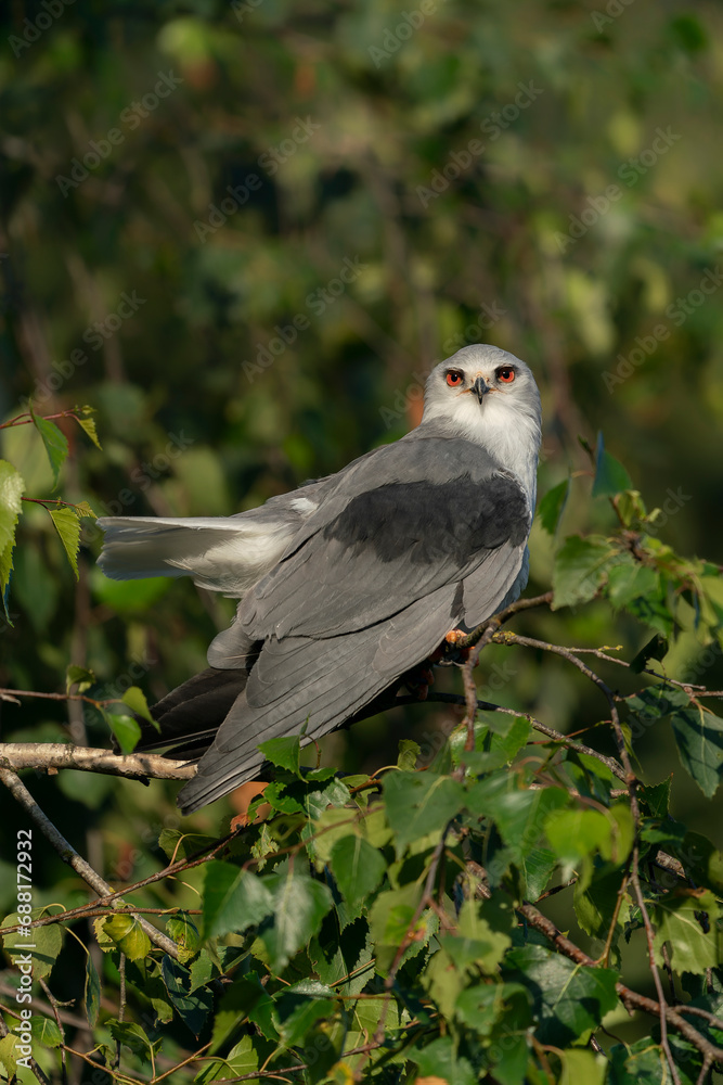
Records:
[[[482,445],[518,475],[534,508],[542,411],[519,358],[486,344],[462,347],[429,374],[422,426]]]

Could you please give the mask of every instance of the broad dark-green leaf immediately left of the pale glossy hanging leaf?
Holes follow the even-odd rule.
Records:
[[[274,894],[264,879],[216,859],[204,869],[204,937],[241,934],[273,912]]]

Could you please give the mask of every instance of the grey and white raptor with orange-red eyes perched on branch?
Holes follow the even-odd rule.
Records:
[[[99,520],[115,579],[191,576],[237,598],[208,668],[152,709],[137,749],[197,763],[184,814],[258,778],[259,743],[347,723],[517,599],[541,442],[526,362],[465,346],[430,371],[410,433],[230,516]]]

